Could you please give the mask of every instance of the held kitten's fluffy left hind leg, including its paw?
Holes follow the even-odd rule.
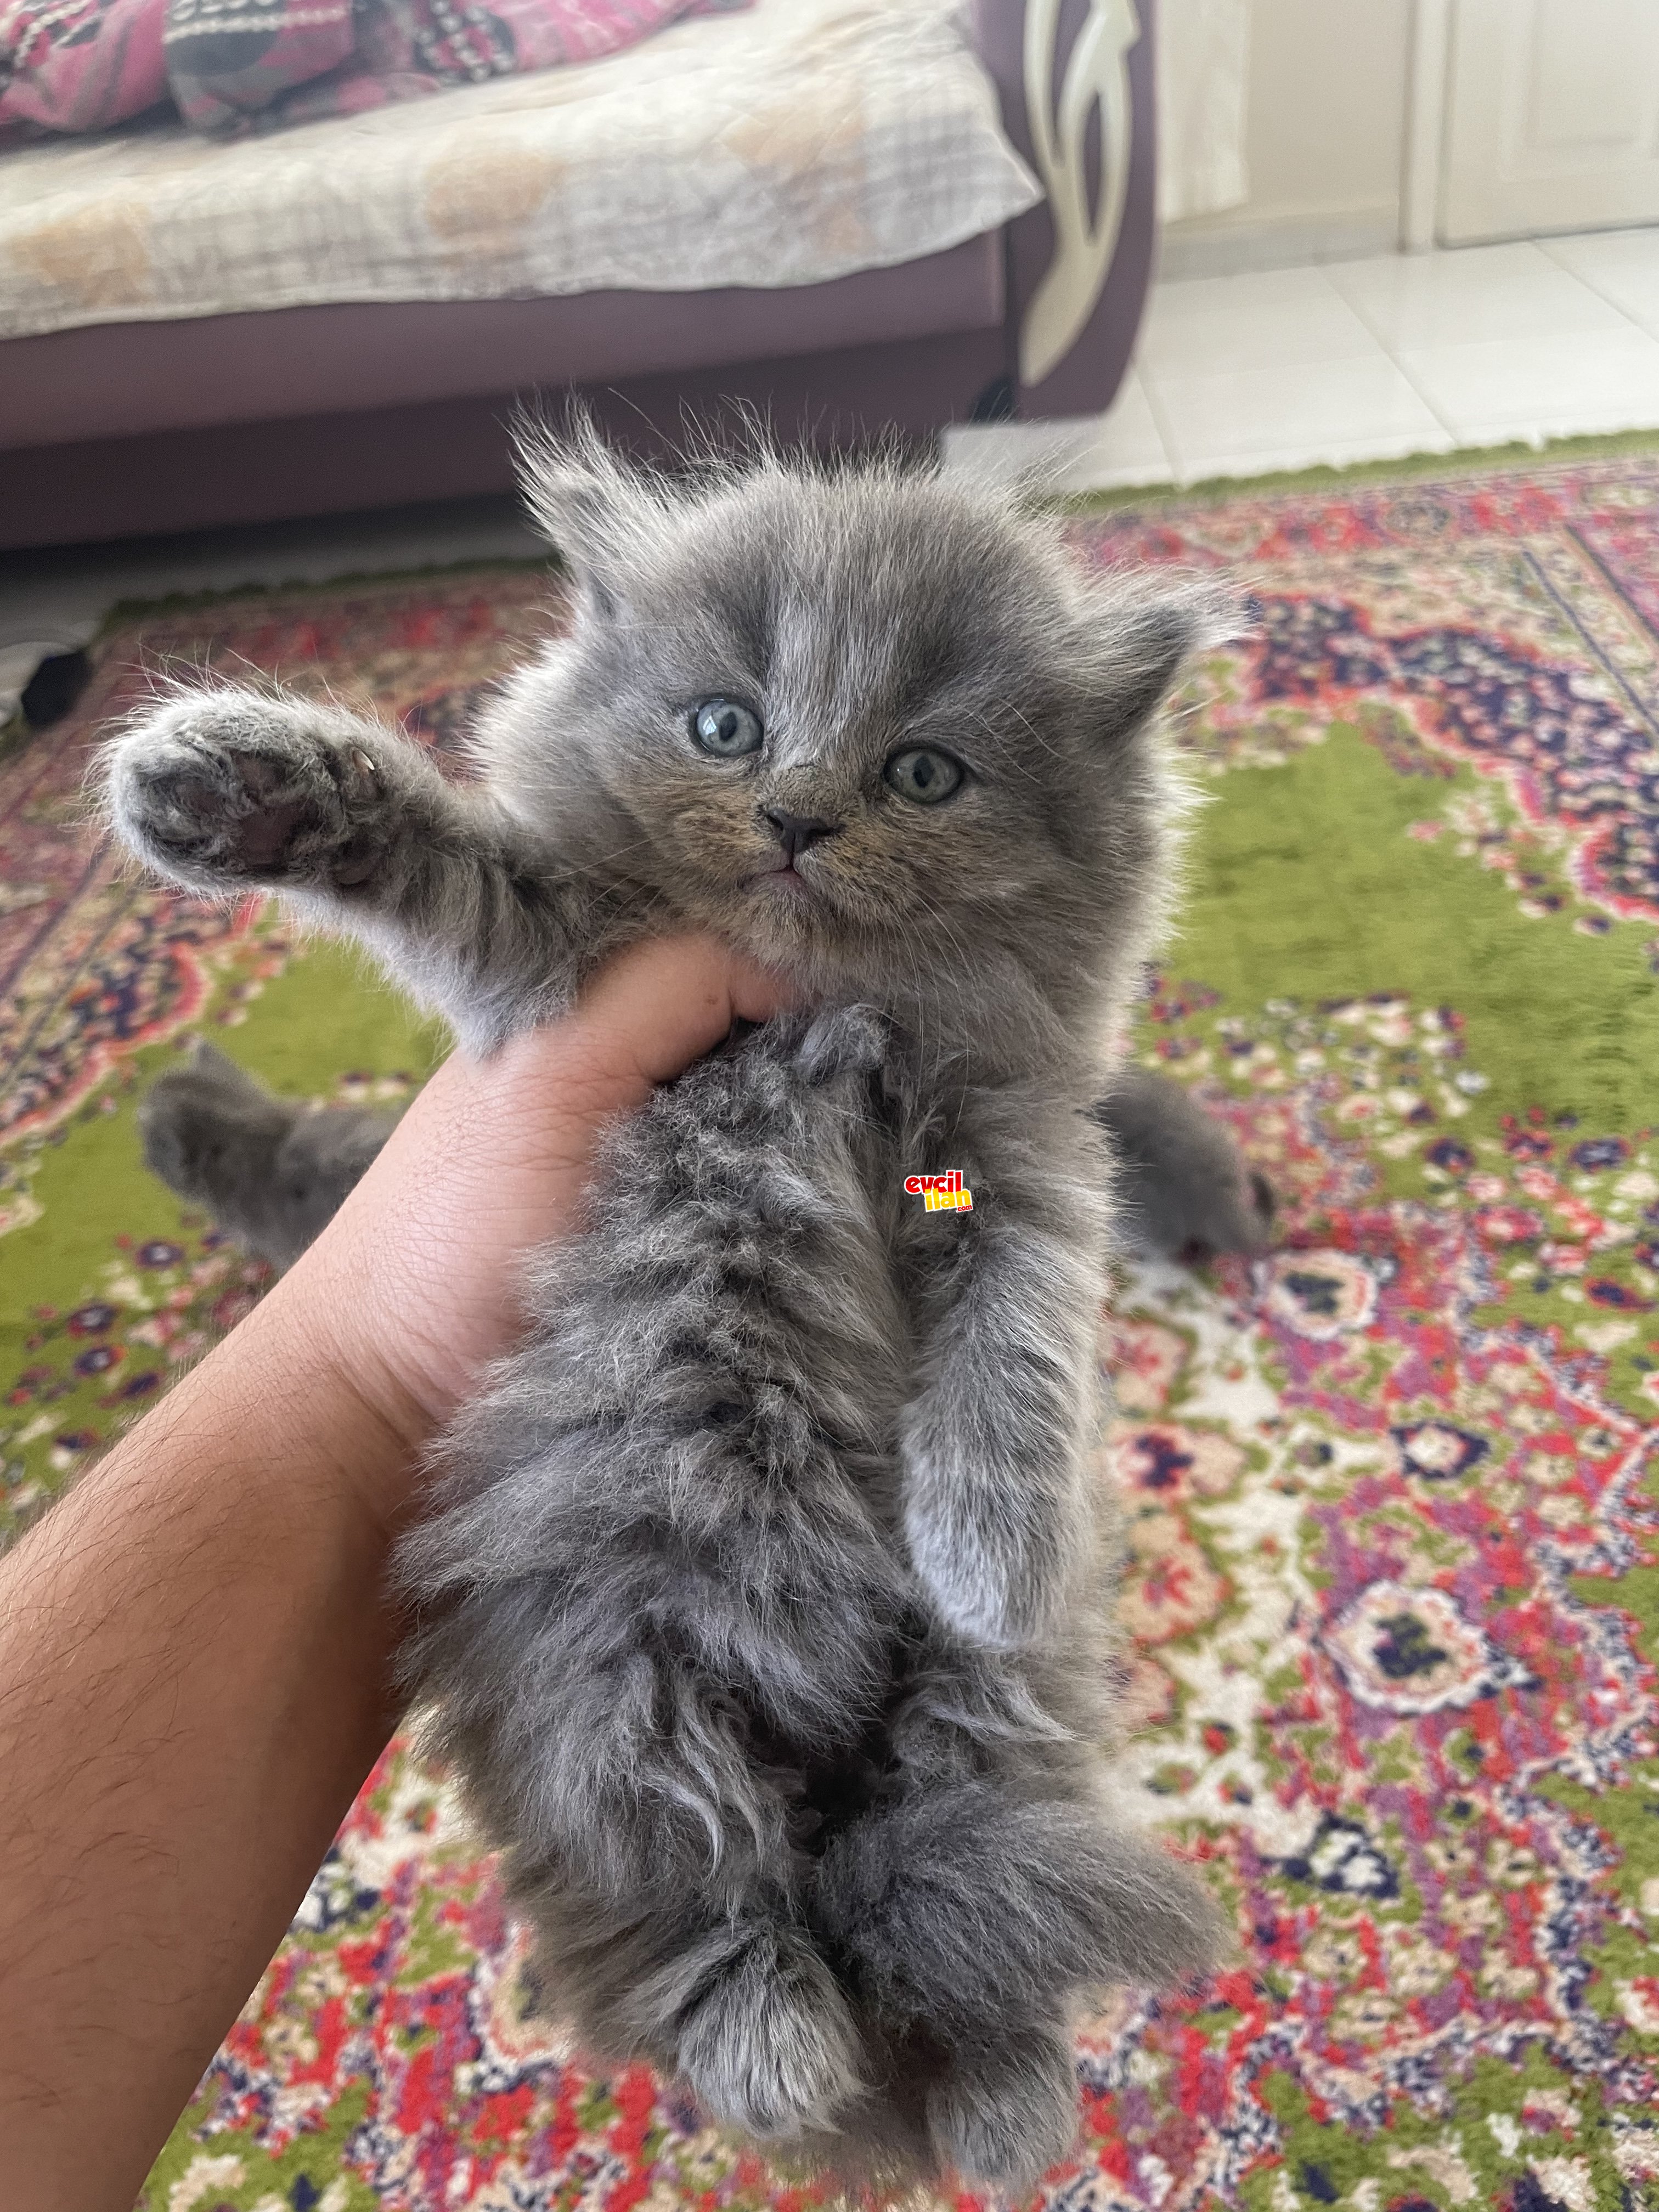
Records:
[[[613,1438],[595,1440],[599,1455],[619,1458]],[[633,1471],[593,1467],[588,1489]],[[546,1462],[538,1478],[544,1495]],[[774,2141],[832,2130],[860,2095],[860,2039],[796,1907],[792,1798],[757,1763],[664,1579],[635,1571],[637,1520],[617,1528],[582,1511],[562,1540],[566,1571],[489,1588],[484,1517],[518,1568],[535,1542],[498,1506],[480,1517],[462,1504],[405,1537],[403,1588],[427,1599],[405,1681],[434,1701],[431,1747],[467,1776],[484,1829],[511,1843],[511,1896],[549,1986],[597,2051],[684,2075],[721,2126]],[[471,1540],[451,1548],[458,1524]],[[473,1575],[442,1613],[440,1546]],[[714,1626],[692,1568],[684,1597]]]

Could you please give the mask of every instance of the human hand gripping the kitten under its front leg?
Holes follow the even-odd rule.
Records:
[[[513,1343],[518,1261],[575,1228],[604,1124],[783,1002],[712,938],[668,938],[608,962],[562,1022],[438,1068],[250,1316],[296,1332],[301,1371],[341,1374],[403,1447],[367,1455],[376,1517],[396,1524],[420,1447]]]

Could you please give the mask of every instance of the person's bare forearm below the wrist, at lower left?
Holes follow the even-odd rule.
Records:
[[[0,1564],[13,2212],[126,2212],[389,1730],[407,1447],[283,1290]]]

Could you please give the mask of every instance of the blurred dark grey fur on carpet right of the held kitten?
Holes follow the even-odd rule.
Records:
[[[1130,1250],[1170,1259],[1265,1250],[1272,1183],[1179,1084],[1126,1064],[1095,1119],[1113,1139],[1115,1228]]]

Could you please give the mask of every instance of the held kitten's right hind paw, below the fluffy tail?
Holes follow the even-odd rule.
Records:
[[[1035,2031],[962,2057],[927,2093],[940,2166],[1000,2197],[1026,2197],[1077,2146],[1077,2064],[1060,2035]]]

